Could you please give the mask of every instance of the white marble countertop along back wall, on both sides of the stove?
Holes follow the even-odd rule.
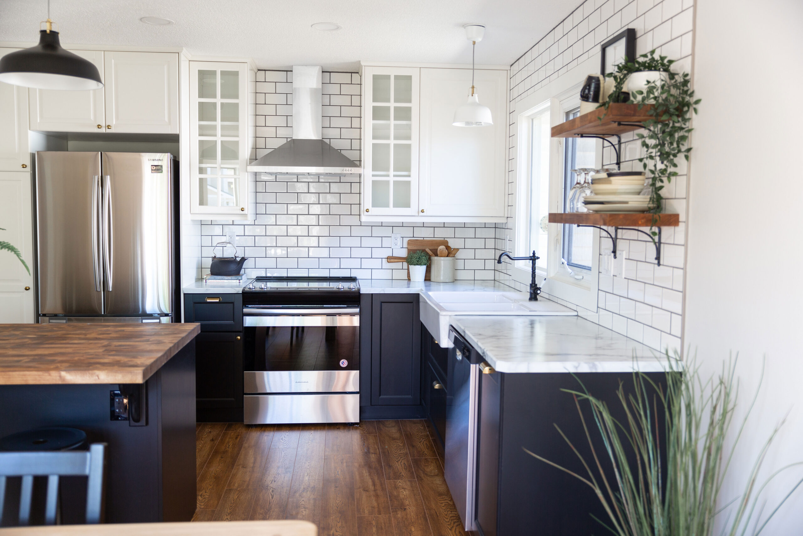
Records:
[[[238,294],[243,292],[243,287],[246,286],[249,281],[250,279],[244,279],[242,283],[222,282],[206,284],[203,280],[197,280],[194,283],[186,285],[182,290],[185,294]],[[507,286],[507,284],[489,280],[463,280],[454,281],[454,283],[433,283],[432,281],[418,283],[402,279],[360,279],[359,281],[360,292],[366,294],[420,294],[422,292],[431,293],[435,291],[515,292],[515,290]]]

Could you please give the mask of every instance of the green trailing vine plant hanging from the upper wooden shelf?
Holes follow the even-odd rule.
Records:
[[[614,88],[603,104],[607,110],[612,102],[621,100],[622,89],[631,73],[641,71],[666,72],[665,79],[650,80],[644,89],[630,92],[630,104],[638,104],[642,109],[646,104],[652,104],[647,110],[651,118],[642,125],[646,133],[638,132],[636,137],[641,140],[644,156],[638,159],[643,169],[650,175],[650,212],[658,215],[662,210],[663,190],[672,178],[678,175],[678,159],[681,155],[688,162],[691,146],[688,145],[691,133],[691,113],[697,113],[700,99],[695,100],[695,92],[691,89],[689,73],[672,72],[674,59],[667,59],[664,55],[655,56],[655,51],[638,56],[633,62],[623,62],[616,72],[610,73],[613,77]],[[653,226],[658,218],[653,217]],[[653,235],[658,233],[652,231]]]

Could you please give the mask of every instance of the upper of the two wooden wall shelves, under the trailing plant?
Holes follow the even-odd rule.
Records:
[[[647,113],[652,108],[652,104],[644,104],[638,109],[638,104],[618,104],[613,103],[605,108],[597,108],[589,113],[570,119],[560,125],[552,127],[552,137],[575,137],[581,134],[592,134],[593,136],[616,136],[642,129],[641,125],[617,125],[617,121],[623,123],[642,123],[654,119]],[[602,121],[600,121],[600,117]]]

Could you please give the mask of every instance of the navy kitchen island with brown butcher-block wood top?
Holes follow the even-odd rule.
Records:
[[[107,522],[190,521],[199,332],[197,324],[0,325],[0,436],[79,428],[108,444]]]

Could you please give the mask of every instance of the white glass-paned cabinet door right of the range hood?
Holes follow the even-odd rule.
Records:
[[[418,213],[418,68],[365,67],[365,215]]]

